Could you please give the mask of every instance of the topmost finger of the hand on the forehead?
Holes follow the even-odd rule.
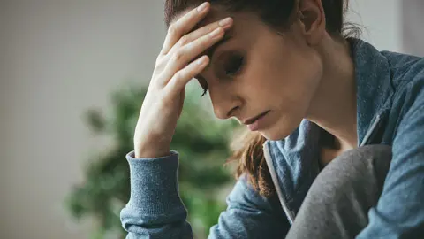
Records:
[[[195,27],[201,19],[203,19],[210,9],[210,4],[205,2],[199,7],[187,12],[186,15],[178,19],[175,23],[171,24],[168,28],[168,34],[165,37],[165,42],[163,42],[163,49],[161,54],[165,55],[172,48],[172,46],[178,42],[181,36],[188,33],[190,30]]]

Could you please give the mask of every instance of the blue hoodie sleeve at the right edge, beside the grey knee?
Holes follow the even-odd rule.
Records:
[[[357,239],[424,236],[424,68],[421,75],[405,94],[382,195]]]

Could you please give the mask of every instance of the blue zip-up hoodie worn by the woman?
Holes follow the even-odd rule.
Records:
[[[349,39],[357,85],[358,146],[392,146],[378,204],[356,238],[424,238],[424,58],[379,52]],[[263,144],[275,197],[261,197],[240,177],[208,238],[284,238],[320,172],[321,128],[303,120],[289,136]],[[178,152],[126,158],[131,198],[121,211],[127,238],[193,238],[178,195]],[[413,237],[416,238],[416,237]]]

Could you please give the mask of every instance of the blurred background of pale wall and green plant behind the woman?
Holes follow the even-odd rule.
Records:
[[[377,49],[424,56],[422,0],[352,0],[351,8],[348,19]],[[124,152],[165,33],[163,1],[0,0],[0,238],[121,236]],[[173,149],[187,158],[182,197],[201,238],[232,183],[221,165],[233,125],[211,116],[194,120],[210,120],[210,130],[193,127],[187,118],[205,107],[201,89],[190,92]],[[199,150],[189,147],[201,139]],[[199,156],[219,164],[191,166]],[[223,189],[219,197],[204,196],[209,188],[193,182],[200,176]]]

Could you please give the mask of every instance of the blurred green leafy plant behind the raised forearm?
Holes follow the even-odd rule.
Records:
[[[112,96],[110,112],[86,112],[87,125],[96,135],[107,135],[114,144],[91,155],[85,181],[65,199],[72,218],[92,218],[92,239],[125,238],[119,212],[130,196],[129,167],[125,155],[133,150],[133,131],[147,88],[128,85]],[[205,99],[208,97],[204,97]],[[179,157],[179,193],[188,211],[195,238],[205,238],[225,208],[219,191],[233,183],[231,168],[223,167],[229,157],[229,139],[237,123],[216,120],[208,100],[188,84],[184,110],[178,120],[170,148]],[[228,188],[228,187],[227,187]]]

